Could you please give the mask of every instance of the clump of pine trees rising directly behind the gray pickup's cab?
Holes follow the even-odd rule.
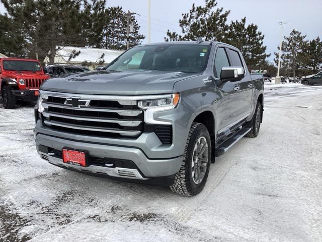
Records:
[[[193,4],[189,13],[182,14],[179,20],[183,35],[168,30],[165,40],[197,40],[202,37],[205,41],[225,42],[240,49],[250,69],[262,68],[270,54],[265,53],[264,35],[258,31],[257,25],[246,26],[246,18],[228,25],[226,22],[230,11],[216,6],[215,0],[206,0],[204,7]]]

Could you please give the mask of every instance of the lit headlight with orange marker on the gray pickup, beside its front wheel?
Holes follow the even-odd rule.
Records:
[[[179,93],[175,93],[166,98],[139,101],[138,107],[142,109],[155,108],[155,107],[168,107],[169,109],[171,109],[171,108],[175,108],[178,102],[179,102]],[[164,108],[162,109],[165,110]]]

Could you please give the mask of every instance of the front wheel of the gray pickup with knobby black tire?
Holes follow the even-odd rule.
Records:
[[[204,151],[201,153],[200,149]],[[175,176],[174,184],[170,187],[171,191],[189,197],[200,193],[207,181],[210,162],[209,132],[203,124],[193,123],[189,131],[182,165]]]

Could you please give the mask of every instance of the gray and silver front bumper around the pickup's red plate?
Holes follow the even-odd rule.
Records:
[[[124,169],[123,167],[110,168],[97,165],[89,165],[87,167],[74,166],[63,163],[62,159],[51,156],[49,153],[43,153],[39,150],[40,145],[51,147],[55,150],[61,150],[63,147],[75,150],[87,150],[89,155],[101,158],[131,160],[136,165],[137,169]],[[129,172],[132,177],[125,178],[141,180],[174,175],[178,172],[182,163],[182,156],[169,159],[149,159],[143,151],[138,148],[66,140],[41,133],[36,134],[36,147],[42,158],[46,159],[49,163],[63,168],[73,168],[79,171],[88,171],[123,178],[124,175],[122,174]]]

